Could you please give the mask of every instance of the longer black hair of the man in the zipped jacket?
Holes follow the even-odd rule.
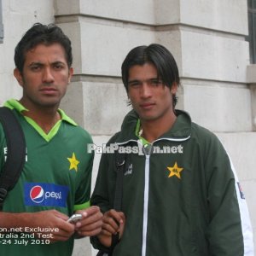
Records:
[[[172,88],[174,82],[179,85],[179,74],[177,63],[172,53],[160,44],[150,44],[148,46],[137,46],[126,55],[122,64],[122,80],[125,90],[128,92],[129,70],[135,65],[152,63],[157,70],[159,78],[163,83]],[[173,105],[177,103],[177,96],[173,96]]]

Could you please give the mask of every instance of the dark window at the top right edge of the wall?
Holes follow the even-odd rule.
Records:
[[[256,63],[256,0],[247,0],[248,6],[248,28],[247,41],[250,47],[250,61]]]

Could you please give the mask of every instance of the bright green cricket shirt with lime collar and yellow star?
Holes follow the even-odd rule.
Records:
[[[19,102],[9,101],[5,105],[13,109],[20,121],[26,138],[27,154],[24,169],[15,188],[9,192],[4,202],[3,212],[39,212],[55,209],[71,216],[76,209],[89,207],[93,164],[93,154],[87,152],[87,144],[92,143],[90,134],[60,110],[61,121],[49,132],[49,139],[45,139],[42,131],[38,131],[38,125],[20,114],[26,109]],[[1,124],[0,149],[4,153],[0,155],[0,166],[2,167],[6,154],[6,142]],[[66,207],[26,206],[25,183],[49,183],[66,186],[69,189]],[[39,245],[32,245],[32,239],[29,239],[29,244],[26,246],[15,245],[15,238],[11,241],[13,242],[11,245],[0,245],[1,254],[70,256],[73,251],[73,238],[50,245],[45,245],[43,242]]]

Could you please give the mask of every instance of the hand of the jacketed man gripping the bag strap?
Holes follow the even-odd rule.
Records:
[[[112,235],[119,233],[119,239],[123,236],[125,230],[125,214],[124,212],[116,212],[110,210],[104,213],[102,232],[98,236],[102,245],[110,247],[112,243]]]

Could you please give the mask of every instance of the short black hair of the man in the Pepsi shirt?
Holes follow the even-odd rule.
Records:
[[[20,73],[23,71],[25,54],[28,50],[35,48],[38,44],[61,44],[65,50],[67,66],[71,67],[73,61],[71,41],[55,24],[43,25],[35,23],[20,39],[15,48],[15,66]]]

